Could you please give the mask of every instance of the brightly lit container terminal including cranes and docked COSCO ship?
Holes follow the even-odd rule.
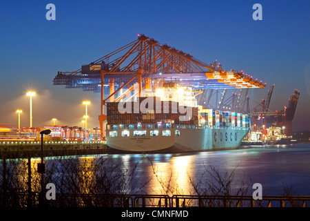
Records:
[[[1,126],[0,142],[37,141],[43,128],[52,131],[46,141],[104,141],[126,151],[204,151],[289,142],[300,95],[295,90],[282,111],[272,111],[273,85],[250,109],[249,90],[262,90],[266,83],[242,70],[224,70],[218,61],[205,64],[145,35],[79,70],[59,71],[53,84],[101,93],[99,127]],[[124,106],[131,107],[120,111]]]

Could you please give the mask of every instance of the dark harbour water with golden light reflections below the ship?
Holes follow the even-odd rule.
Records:
[[[104,160],[109,158],[109,160]],[[63,164],[64,161],[75,160],[74,164]],[[240,179],[250,178],[250,184],[262,184],[263,195],[282,195],[283,183],[292,186],[296,195],[310,195],[310,145],[294,144],[281,146],[252,146],[231,151],[210,151],[186,154],[127,154],[127,155],[94,155],[80,157],[47,157],[47,169],[54,168],[55,173],[49,179],[62,177],[59,186],[63,187],[64,180],[72,179],[74,188],[81,193],[98,193],[90,186],[101,185],[99,191],[104,191],[106,182],[118,184],[118,189],[126,193],[148,194],[193,194],[192,182],[199,180],[209,166],[220,171],[234,171],[234,187],[238,188]],[[27,184],[27,164],[21,160],[19,182],[23,189]],[[39,182],[36,172],[38,159],[32,159],[32,179]],[[61,163],[60,163],[61,162]],[[74,177],[65,174],[65,166],[72,166],[76,171]],[[103,166],[100,167],[100,166]],[[62,169],[61,169],[62,167]],[[114,171],[107,168],[115,169]],[[74,171],[73,170],[73,171]],[[52,168],[50,168],[52,171]],[[72,170],[71,170],[72,171]],[[71,173],[71,172],[70,172]],[[107,177],[101,177],[103,173]],[[119,173],[121,175],[116,175]],[[76,175],[78,174],[78,175]],[[120,179],[126,182],[120,184]],[[204,178],[205,179],[205,178]],[[104,184],[103,184],[104,183]],[[66,184],[65,189],[73,188]],[[103,185],[103,186],[102,186]],[[121,186],[121,187],[120,187]],[[56,184],[57,188],[57,184]],[[251,186],[248,186],[250,194]],[[105,190],[106,191],[106,190]]]

